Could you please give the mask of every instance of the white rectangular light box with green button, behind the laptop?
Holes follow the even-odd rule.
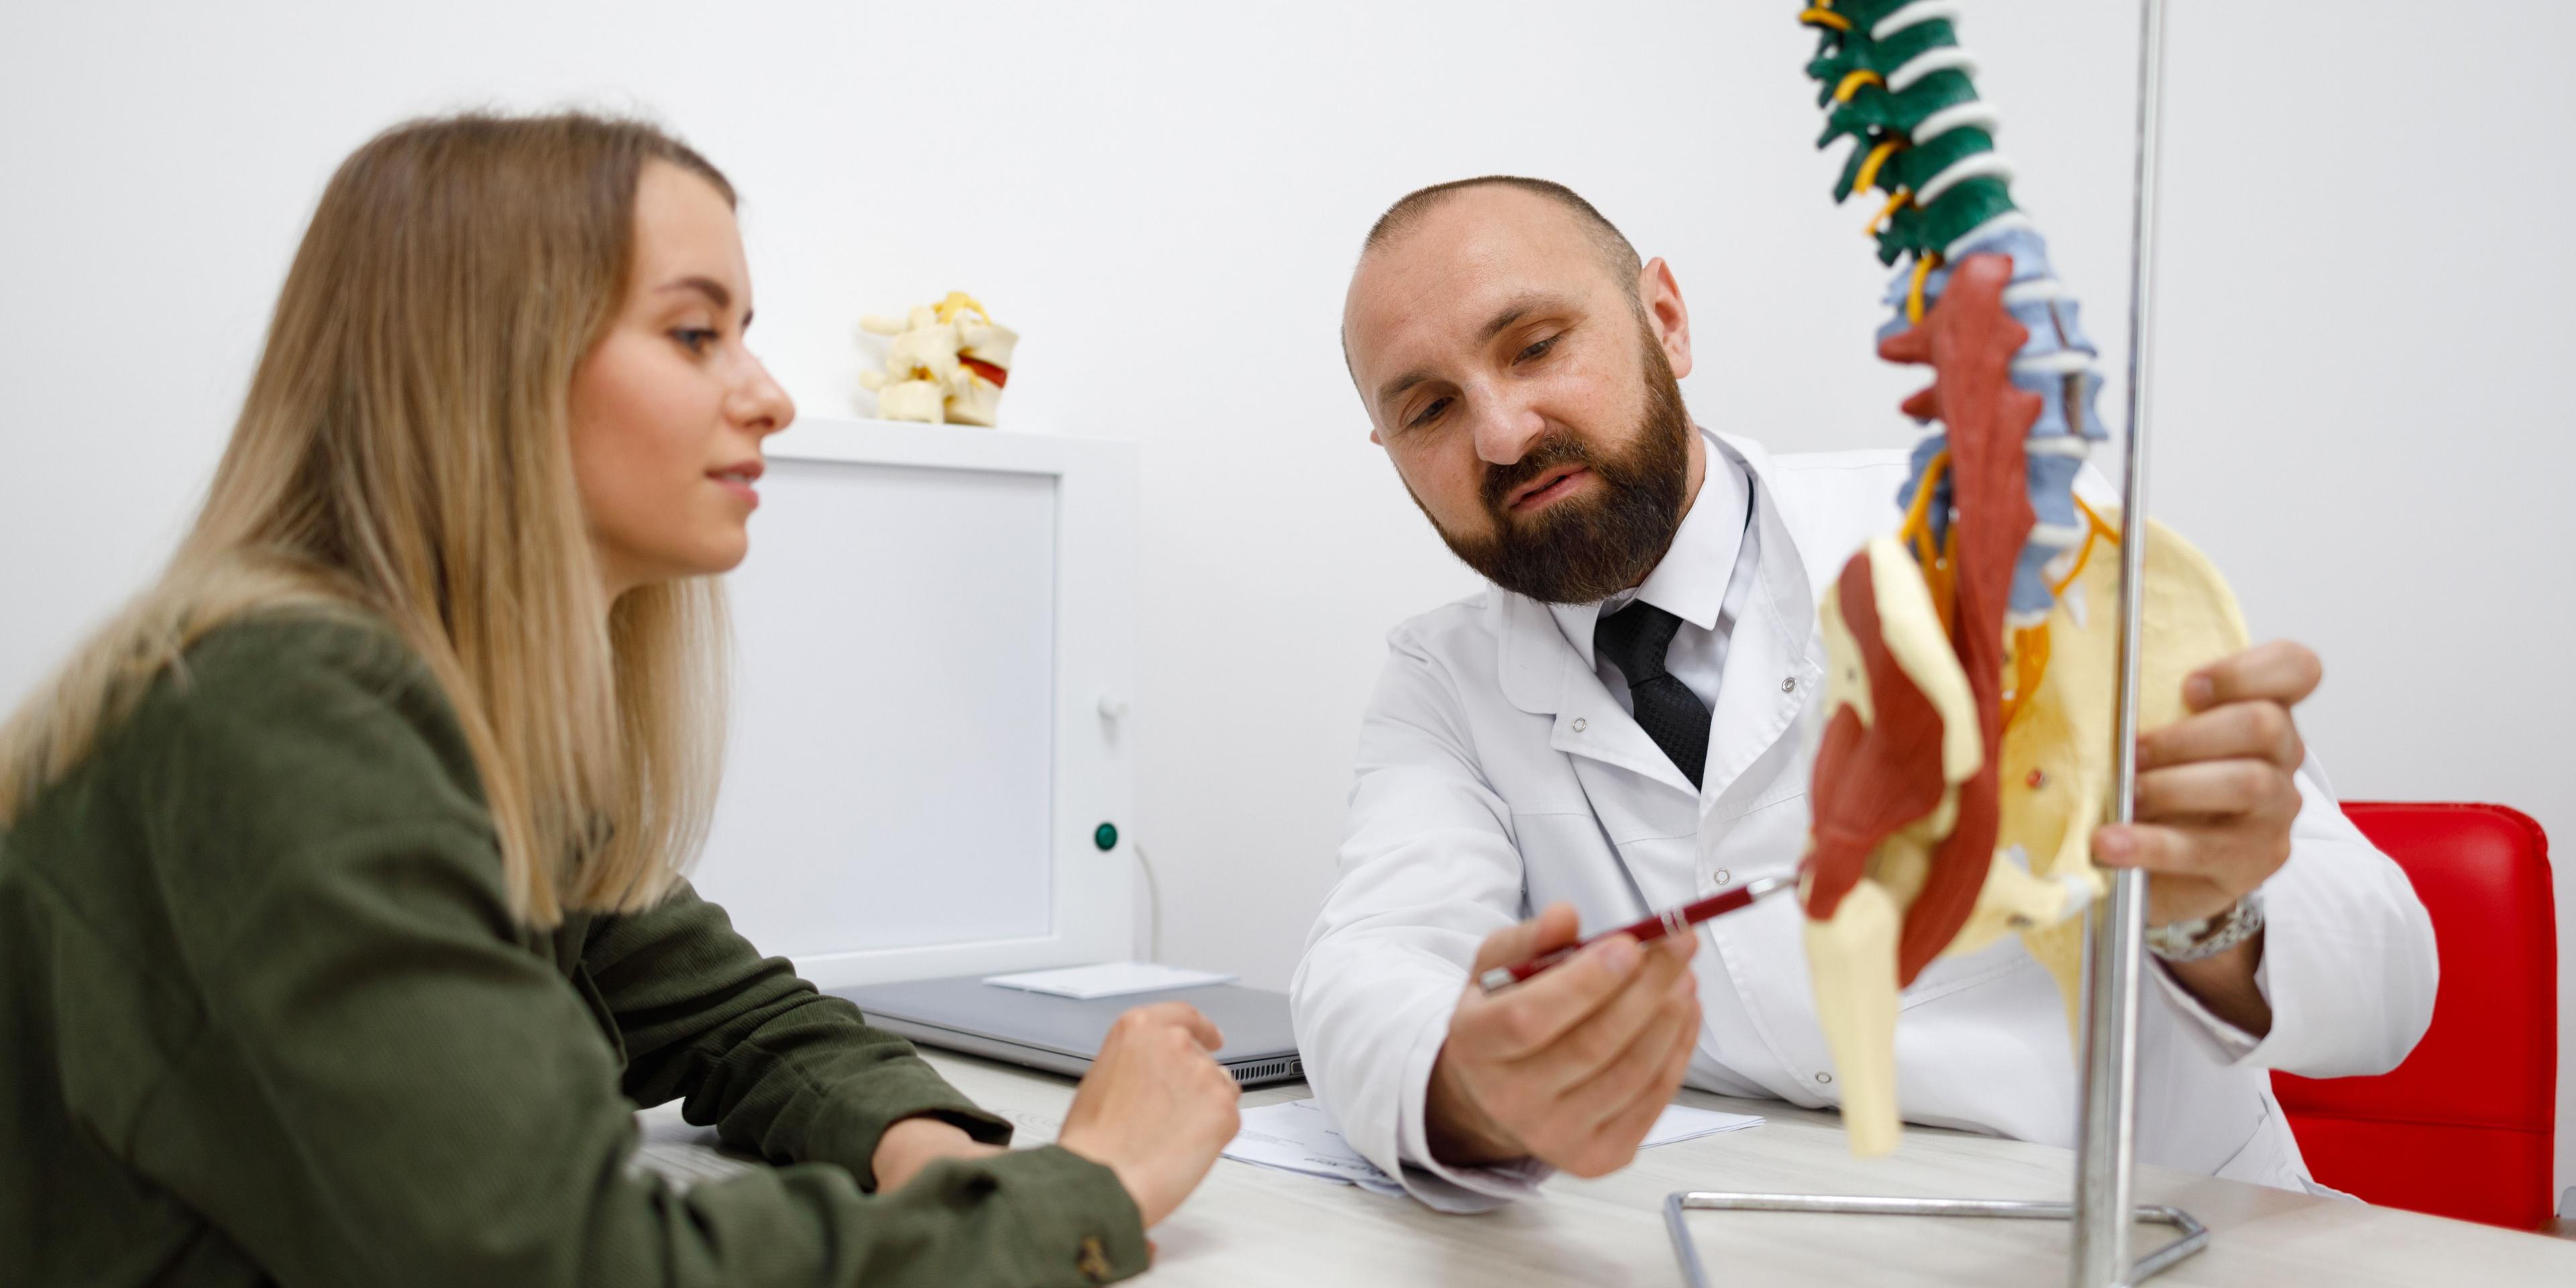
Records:
[[[698,891],[827,989],[1133,956],[1133,448],[799,420],[765,453]]]

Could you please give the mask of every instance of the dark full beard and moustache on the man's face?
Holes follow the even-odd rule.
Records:
[[[1628,590],[1664,562],[1672,533],[1682,526],[1682,489],[1690,482],[1690,412],[1682,386],[1672,379],[1664,345],[1646,335],[1641,379],[1646,417],[1628,446],[1610,453],[1584,446],[1571,433],[1553,430],[1507,466],[1484,471],[1484,513],[1494,531],[1458,536],[1432,518],[1450,554],[1489,582],[1540,603],[1592,603]],[[1504,510],[1512,492],[1558,466],[1589,469],[1600,487],[1587,497],[1566,497],[1546,510],[1515,518]],[[1422,497],[1414,497],[1422,505]],[[1422,510],[1430,518],[1430,507]]]

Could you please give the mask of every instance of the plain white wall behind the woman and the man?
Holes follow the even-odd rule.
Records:
[[[1698,304],[1700,420],[1904,440],[1793,8],[13,5],[0,701],[167,549],[353,144],[456,106],[641,108],[744,191],[755,343],[806,410],[853,410],[860,312],[969,289],[1028,337],[1012,425],[1144,446],[1133,835],[1164,956],[1280,984],[1381,634],[1471,587],[1334,348],[1386,201],[1566,180]],[[2326,654],[2306,726],[2347,796],[2506,801],[2576,837],[2550,495],[2576,469],[2553,381],[2576,10],[2174,8],[2156,507],[2259,634]],[[1965,31],[2022,204],[2125,353],[2130,5],[1981,0]]]

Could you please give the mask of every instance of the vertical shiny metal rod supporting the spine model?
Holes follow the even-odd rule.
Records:
[[[2128,469],[2120,479],[2120,714],[2112,724],[2112,822],[2138,817],[2138,634],[2146,616],[2146,428],[2154,379],[2156,134],[2164,116],[2164,0],[2138,15],[2138,193],[2128,260]],[[2110,1288],[2130,1270],[2130,1180],[2138,1151],[2138,943],[2146,873],[2123,868],[2092,907],[2084,940],[2084,1110],[2076,1133],[2074,1288]]]

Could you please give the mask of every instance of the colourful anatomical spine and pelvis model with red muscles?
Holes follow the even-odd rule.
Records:
[[[1819,147],[1855,139],[1834,198],[1870,222],[1893,319],[1878,355],[1927,363],[1904,410],[1932,430],[1896,495],[1904,523],[1844,564],[1819,608],[1824,742],[1801,863],[1816,1015],[1855,1154],[1896,1146],[1899,992],[1937,956],[2007,933],[2081,1002],[2081,912],[2107,889],[2117,510],[2074,495],[2102,379],[2048,242],[2012,204],[1996,113],[1976,98],[1955,0],[1814,0]],[[2138,726],[2182,716],[2182,677],[2244,647],[2218,572],[2151,526]]]

